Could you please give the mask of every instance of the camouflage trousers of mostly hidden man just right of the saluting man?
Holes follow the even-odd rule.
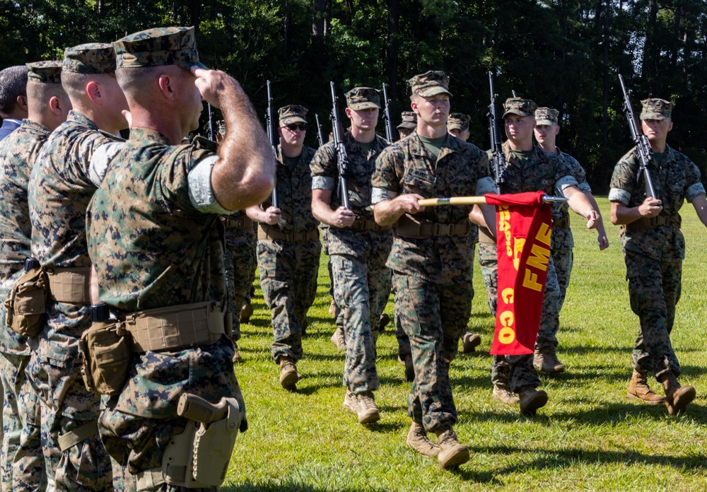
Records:
[[[233,315],[233,341],[240,340],[240,308],[250,302],[250,289],[255,279],[255,247],[257,239],[252,230],[227,228],[226,251],[223,266],[226,270],[228,309]]]

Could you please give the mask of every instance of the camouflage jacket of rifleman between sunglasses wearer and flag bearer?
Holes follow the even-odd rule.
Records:
[[[346,180],[349,187],[349,204],[356,217],[373,221],[373,211],[366,210],[370,206],[370,176],[375,170],[375,158],[388,145],[388,141],[376,135],[373,147],[364,154],[350,131],[344,133],[344,146],[349,156],[349,168],[346,170]],[[329,189],[332,191],[331,208],[336,210],[341,206],[337,196],[339,168],[337,167],[337,151],[334,141],[330,140],[315,153],[310,163],[312,170],[312,189]],[[350,229],[330,227],[327,233],[329,254],[361,254],[366,250],[366,241],[371,236],[388,240],[392,231],[384,233],[361,233]]]

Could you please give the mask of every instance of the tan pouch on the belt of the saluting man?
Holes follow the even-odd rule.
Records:
[[[130,337],[122,322],[95,322],[81,335],[81,376],[88,391],[112,396],[122,391],[130,370]]]

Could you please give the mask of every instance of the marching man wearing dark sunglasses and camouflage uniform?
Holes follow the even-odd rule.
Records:
[[[317,295],[317,274],[322,243],[319,221],[312,216],[310,162],[315,150],[303,145],[307,108],[287,105],[279,109],[276,187],[272,197],[247,209],[258,225],[260,288],[271,310],[272,358],[280,365],[280,384],[296,389],[302,358],[302,335],[307,312]]]

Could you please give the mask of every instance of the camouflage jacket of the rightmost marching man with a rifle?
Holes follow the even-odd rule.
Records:
[[[643,179],[636,182],[638,159],[634,152],[626,153],[619,160],[612,175],[609,201],[633,208],[643,203],[645,185]],[[665,147],[660,166],[654,160],[648,165],[650,177],[658,199],[662,201],[660,216],[679,218],[679,210],[685,200],[693,201],[705,193],[700,181],[700,170],[683,153],[670,146]],[[622,228],[621,246],[624,250],[644,254],[663,262],[675,262],[685,258],[685,239],[674,225],[660,225],[652,229]]]

